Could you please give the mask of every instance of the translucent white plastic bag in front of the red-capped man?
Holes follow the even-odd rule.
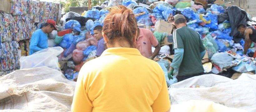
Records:
[[[43,49],[29,56],[22,56],[19,59],[20,69],[47,66],[60,70],[57,56],[63,52],[61,47]]]

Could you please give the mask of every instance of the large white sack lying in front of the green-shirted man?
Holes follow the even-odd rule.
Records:
[[[235,80],[214,74],[196,76],[171,85],[169,94],[172,105],[188,100],[206,100],[255,112],[256,75],[243,73]]]

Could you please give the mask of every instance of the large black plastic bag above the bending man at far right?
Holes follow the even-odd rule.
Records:
[[[246,26],[247,19],[248,19],[247,14],[237,6],[230,6],[228,8],[228,15],[229,15],[230,25],[232,27],[232,31],[229,35],[235,36],[239,33],[239,31],[237,30],[237,26],[239,26],[240,24],[243,24]]]

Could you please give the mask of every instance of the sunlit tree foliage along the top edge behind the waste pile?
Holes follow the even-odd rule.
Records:
[[[91,6],[101,5],[105,0],[91,0]],[[64,13],[69,12],[69,7],[86,7],[88,0],[55,0],[54,2],[60,3]]]

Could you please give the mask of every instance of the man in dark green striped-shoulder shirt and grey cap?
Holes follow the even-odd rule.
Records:
[[[178,72],[178,82],[190,77],[204,74],[202,58],[205,54],[204,45],[199,33],[187,27],[183,15],[174,16],[176,30],[173,31],[173,62],[168,76]]]

